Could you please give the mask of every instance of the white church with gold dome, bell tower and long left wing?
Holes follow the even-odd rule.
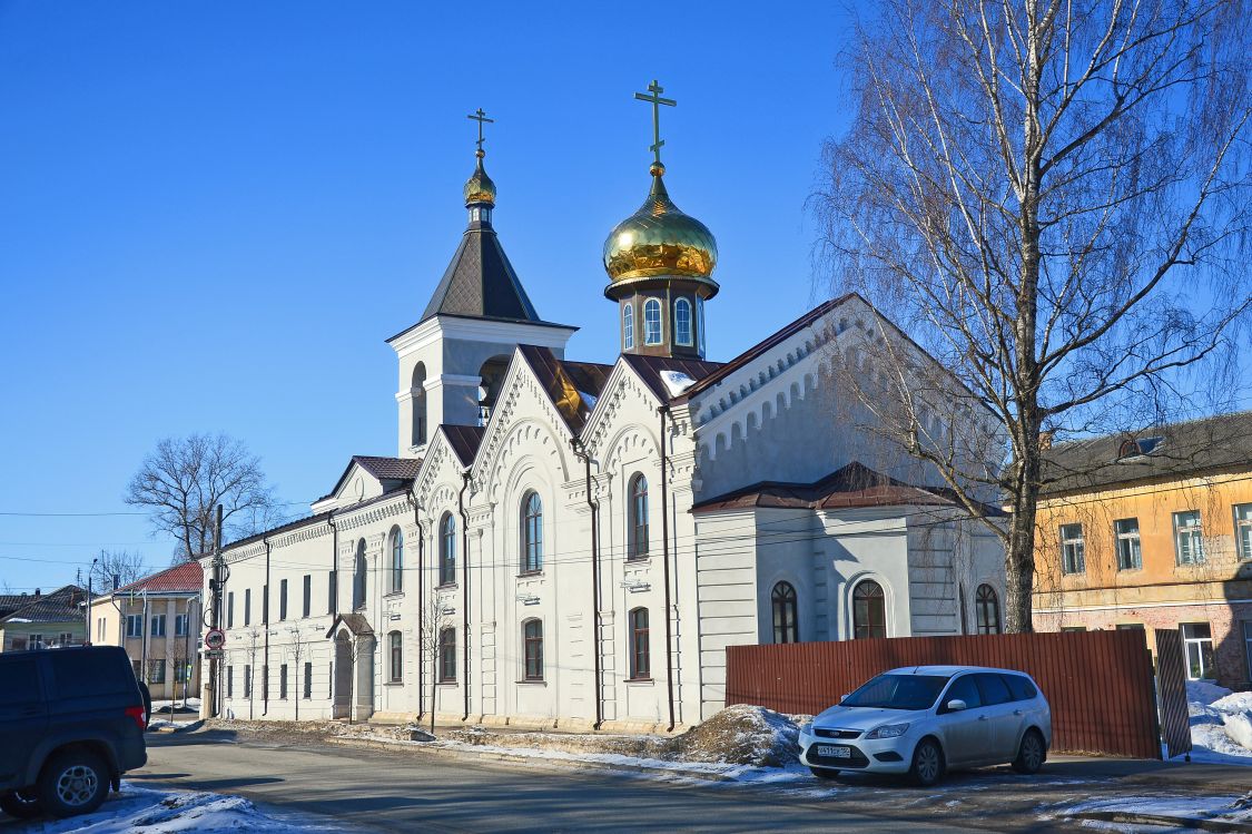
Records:
[[[220,589],[203,560],[222,715],[666,731],[724,706],[730,645],[1000,629],[967,605],[1003,599],[998,541],[838,389],[883,338],[860,297],[706,358],[716,244],[657,160],[605,244],[621,353],[570,359],[482,158],[447,272],[388,339],[396,457],[229,543]]]

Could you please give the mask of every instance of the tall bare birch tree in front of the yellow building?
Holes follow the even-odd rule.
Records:
[[[1029,631],[1040,446],[1143,420],[1146,403],[1231,367],[1217,359],[1252,304],[1249,9],[875,10],[850,50],[855,111],[826,147],[816,205],[835,289],[900,329],[879,323],[890,338],[865,357],[874,372],[848,376],[871,431],[1000,537],[1007,626]]]

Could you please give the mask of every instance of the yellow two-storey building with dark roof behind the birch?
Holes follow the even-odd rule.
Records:
[[[1189,679],[1252,685],[1252,412],[1058,445],[1044,477],[1034,627],[1178,629]]]

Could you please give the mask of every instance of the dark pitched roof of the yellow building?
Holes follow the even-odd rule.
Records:
[[[1139,450],[1148,450],[1147,455]],[[1252,468],[1252,411],[1058,443],[1044,453],[1043,493]]]

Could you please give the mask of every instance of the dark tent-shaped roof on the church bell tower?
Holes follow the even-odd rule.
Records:
[[[490,225],[471,224],[422,321],[439,314],[538,322],[540,314]]]

